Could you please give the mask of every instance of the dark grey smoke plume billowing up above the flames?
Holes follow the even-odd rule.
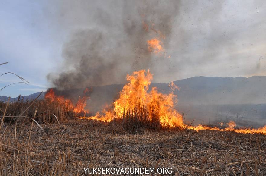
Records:
[[[83,19],[88,13],[76,9],[73,14],[81,16],[85,24],[70,33],[62,49],[61,70],[58,75],[48,74],[48,80],[60,90],[102,86],[121,83],[132,71],[153,68],[169,48],[179,6],[174,0],[100,4],[89,14],[88,24]],[[62,7],[61,13],[65,14],[66,9]],[[147,41],[153,38],[160,39],[164,48],[159,56],[148,50]]]

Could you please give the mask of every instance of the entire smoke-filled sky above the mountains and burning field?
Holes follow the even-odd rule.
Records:
[[[0,96],[125,83],[124,74],[138,69],[150,69],[153,82],[164,83],[266,76],[265,9],[264,0],[2,0],[0,64],[9,63],[0,73],[13,72],[30,83],[8,86]],[[165,36],[164,52],[147,53],[146,40],[158,31]],[[0,77],[1,88],[16,82],[13,74]]]

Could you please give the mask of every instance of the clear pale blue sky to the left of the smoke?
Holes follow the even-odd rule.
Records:
[[[42,13],[41,1],[2,1],[0,7],[1,73],[13,72],[31,84],[15,84],[3,89],[1,96],[16,97],[46,90],[46,74],[60,60],[61,46]],[[0,77],[0,86],[20,82],[15,75]]]

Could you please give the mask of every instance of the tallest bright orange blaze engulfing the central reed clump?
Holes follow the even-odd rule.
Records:
[[[144,106],[148,110],[149,120],[159,118],[162,127],[183,126],[182,116],[174,109],[176,95],[173,92],[162,94],[153,87],[148,93],[151,84],[152,74],[145,70],[135,71],[132,75],[127,75],[127,83],[120,92],[119,98],[114,102],[114,112],[116,117],[123,115],[137,106]],[[105,111],[105,115],[99,113],[91,119],[111,121],[112,113]]]

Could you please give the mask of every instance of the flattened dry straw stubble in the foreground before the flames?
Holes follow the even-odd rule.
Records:
[[[266,175],[266,135],[138,130],[74,119],[11,124],[0,134],[0,175],[86,175],[83,168],[166,167],[172,175]],[[3,135],[3,133],[5,133]],[[29,139],[30,138],[30,139]],[[159,174],[157,174],[159,175]]]

